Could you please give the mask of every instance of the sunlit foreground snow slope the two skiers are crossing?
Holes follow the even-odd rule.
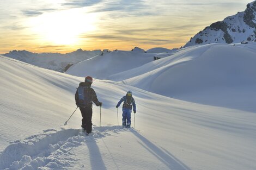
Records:
[[[83,78],[2,56],[0,60],[0,169],[256,168],[253,112],[94,80],[103,102],[101,133],[100,109],[94,107],[94,134],[84,136],[79,111],[63,127],[75,109],[75,88]],[[114,106],[127,90],[133,91],[137,103],[136,130],[117,126]]]

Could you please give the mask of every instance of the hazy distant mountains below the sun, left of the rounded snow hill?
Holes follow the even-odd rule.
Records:
[[[47,68],[54,71],[64,72],[68,67],[80,61],[92,58],[95,55],[101,54],[101,50],[83,51],[77,49],[75,52],[60,54],[60,53],[31,53],[28,51],[10,51],[4,56],[27,62],[35,66]]]

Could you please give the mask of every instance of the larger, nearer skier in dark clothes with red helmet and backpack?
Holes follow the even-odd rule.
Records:
[[[83,117],[81,127],[84,131],[86,131],[87,134],[92,132],[93,102],[96,104],[96,106],[102,105],[102,102],[99,102],[97,99],[95,91],[92,87],[90,87],[92,83],[93,78],[87,76],[84,79],[84,82],[79,84],[75,94],[76,106],[79,107]]]

